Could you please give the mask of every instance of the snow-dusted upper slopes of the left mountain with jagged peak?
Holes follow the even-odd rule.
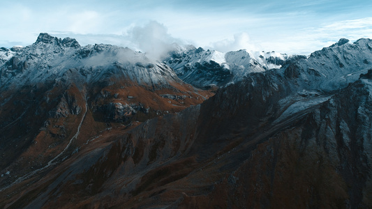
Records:
[[[1,57],[5,58],[0,65],[1,87],[60,79],[71,69],[79,71],[84,82],[112,74],[149,86],[181,82],[168,66],[151,61],[140,52],[112,45],[81,47],[73,38],[61,40],[47,33],[40,33],[33,45],[19,52],[3,51]]]

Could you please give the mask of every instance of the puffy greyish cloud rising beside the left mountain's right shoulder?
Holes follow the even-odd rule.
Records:
[[[134,26],[127,31],[126,38],[153,59],[161,59],[172,49],[172,43],[182,42],[173,38],[168,33],[168,29],[156,21],[151,21],[144,26]]]

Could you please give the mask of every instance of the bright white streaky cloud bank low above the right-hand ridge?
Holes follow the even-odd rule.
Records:
[[[329,47],[340,38],[348,38],[350,42],[354,42],[359,38],[371,37],[372,17],[365,17],[329,21],[300,29],[277,29],[262,33],[260,37],[255,37],[255,40],[259,40],[257,45],[265,51],[308,55],[322,47]]]

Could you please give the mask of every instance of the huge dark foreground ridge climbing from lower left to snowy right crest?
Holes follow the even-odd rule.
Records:
[[[1,171],[0,206],[371,208],[371,62],[372,40],[341,39],[178,113],[100,132],[88,105],[66,160],[15,182]]]

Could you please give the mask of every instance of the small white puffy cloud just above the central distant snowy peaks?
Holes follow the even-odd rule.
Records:
[[[248,33],[237,33],[233,39],[224,39],[211,43],[210,46],[219,52],[237,51],[239,49],[247,49],[249,51],[258,51],[259,46],[251,41]]]

